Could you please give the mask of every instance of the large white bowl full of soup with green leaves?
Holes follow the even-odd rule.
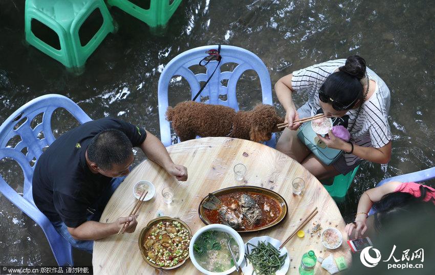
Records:
[[[189,255],[193,265],[208,275],[226,275],[235,271],[228,240],[240,266],[245,255],[243,239],[233,228],[224,224],[209,224],[192,236]]]

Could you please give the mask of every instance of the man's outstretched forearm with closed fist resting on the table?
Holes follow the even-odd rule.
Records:
[[[151,161],[163,167],[168,174],[175,176],[178,180],[187,180],[187,168],[172,162],[165,146],[154,134],[146,131],[146,139],[140,148]]]

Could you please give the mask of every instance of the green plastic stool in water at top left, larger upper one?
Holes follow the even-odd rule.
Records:
[[[96,9],[102,16],[102,25],[89,42],[82,45],[79,29]],[[58,49],[36,37],[32,24],[45,25],[44,28],[54,31],[58,36],[55,38]],[[103,0],[26,0],[26,41],[75,72],[82,71],[89,56],[106,35],[114,31],[113,18]]]

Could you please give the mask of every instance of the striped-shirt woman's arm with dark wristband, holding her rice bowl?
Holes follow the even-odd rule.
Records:
[[[325,139],[321,135],[317,135],[329,148],[343,150],[344,152],[350,152],[352,145],[342,139],[336,137],[332,131],[329,131],[329,139]],[[391,142],[388,142],[385,146],[380,148],[375,147],[362,147],[354,144],[353,155],[359,156],[372,163],[386,164],[391,158]]]

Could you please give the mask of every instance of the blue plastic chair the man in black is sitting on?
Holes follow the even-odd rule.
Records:
[[[72,247],[57,233],[50,220],[38,210],[32,196],[32,177],[37,159],[42,154],[42,149],[55,140],[51,129],[51,116],[57,108],[68,110],[80,123],[91,121],[91,118],[69,98],[61,95],[45,95],[21,106],[0,126],[0,159],[5,157],[14,159],[23,169],[24,174],[23,196],[11,188],[1,175],[0,192],[41,226],[57,264],[63,266],[73,265]],[[44,113],[42,122],[32,129],[30,123],[40,113]],[[17,127],[17,124],[20,125]],[[41,131],[44,133],[44,138],[38,139],[38,133]],[[8,142],[17,135],[20,136],[21,141],[15,147],[7,146]],[[27,153],[24,154],[21,150],[26,147]]]

